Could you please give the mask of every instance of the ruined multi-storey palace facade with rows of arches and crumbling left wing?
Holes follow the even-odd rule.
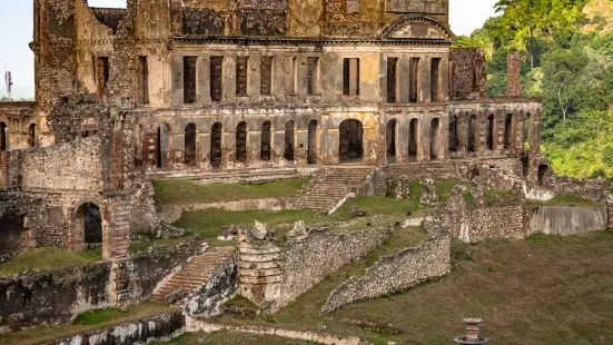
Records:
[[[0,188],[53,204],[16,223],[56,235],[17,240],[80,249],[92,205],[120,256],[146,177],[516,158],[536,181],[517,57],[487,98],[483,52],[454,40],[447,0],[34,0],[37,100],[0,105]]]

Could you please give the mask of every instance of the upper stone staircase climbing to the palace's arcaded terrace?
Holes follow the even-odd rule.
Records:
[[[313,187],[298,198],[295,208],[329,213],[349,194],[357,193],[372,167],[326,168]]]

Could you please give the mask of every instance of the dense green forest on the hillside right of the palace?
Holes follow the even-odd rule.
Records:
[[[506,55],[522,56],[522,92],[543,97],[542,151],[558,175],[613,183],[613,0],[498,0],[459,47],[488,59],[488,93],[506,91]]]

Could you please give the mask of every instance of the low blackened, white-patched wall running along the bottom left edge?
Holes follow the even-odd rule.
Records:
[[[184,334],[185,329],[186,318],[184,314],[175,312],[49,342],[47,345],[132,345],[168,342]]]

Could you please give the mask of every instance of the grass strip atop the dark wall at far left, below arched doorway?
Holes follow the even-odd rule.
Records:
[[[59,270],[96,263],[102,258],[101,250],[73,253],[59,248],[36,248],[17,255],[0,265],[0,276],[10,276],[29,269]]]

